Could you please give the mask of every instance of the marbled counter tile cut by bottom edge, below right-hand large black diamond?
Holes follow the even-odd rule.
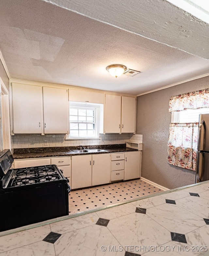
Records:
[[[197,256],[201,252],[192,251],[192,246],[179,243],[175,241],[170,241],[161,246],[150,248],[149,252],[141,253],[143,256],[154,256],[154,255],[167,255],[167,256]]]

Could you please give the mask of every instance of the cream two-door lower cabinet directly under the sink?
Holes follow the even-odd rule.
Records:
[[[72,189],[110,183],[110,154],[72,156]]]

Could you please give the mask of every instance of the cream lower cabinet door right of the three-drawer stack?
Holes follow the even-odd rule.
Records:
[[[125,180],[137,179],[141,175],[141,151],[125,152]]]

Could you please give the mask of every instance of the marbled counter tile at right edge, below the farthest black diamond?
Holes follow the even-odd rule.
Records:
[[[199,196],[189,196],[176,200],[176,204],[196,215],[209,219],[209,201]]]

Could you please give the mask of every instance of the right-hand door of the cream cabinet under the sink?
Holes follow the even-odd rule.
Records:
[[[92,155],[92,186],[110,183],[110,154]]]

